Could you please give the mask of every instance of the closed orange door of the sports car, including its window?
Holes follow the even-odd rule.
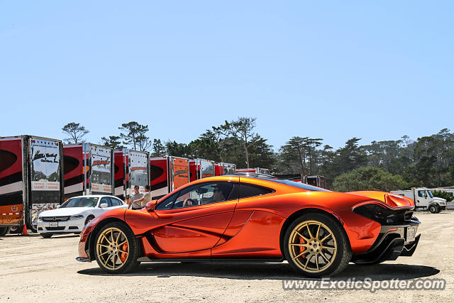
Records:
[[[157,247],[162,253],[213,248],[237,202],[238,182],[203,182],[179,190],[156,206],[160,227],[152,235]]]

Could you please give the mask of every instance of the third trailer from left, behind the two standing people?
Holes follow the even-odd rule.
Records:
[[[145,192],[145,185],[150,184],[150,155],[138,150],[114,150],[114,195],[125,202],[134,187]]]

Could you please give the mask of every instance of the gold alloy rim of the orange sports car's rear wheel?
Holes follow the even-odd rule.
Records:
[[[304,221],[293,228],[289,253],[305,272],[322,272],[336,258],[337,243],[333,231],[319,221]]]

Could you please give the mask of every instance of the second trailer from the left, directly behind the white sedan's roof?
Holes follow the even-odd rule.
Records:
[[[87,194],[113,194],[113,150],[92,143],[63,145],[65,200]]]

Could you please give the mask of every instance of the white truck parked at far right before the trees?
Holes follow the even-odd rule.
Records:
[[[442,210],[446,210],[446,200],[433,197],[431,189],[425,187],[408,190],[394,190],[391,193],[413,199],[415,210],[428,210],[432,214],[437,214]]]

